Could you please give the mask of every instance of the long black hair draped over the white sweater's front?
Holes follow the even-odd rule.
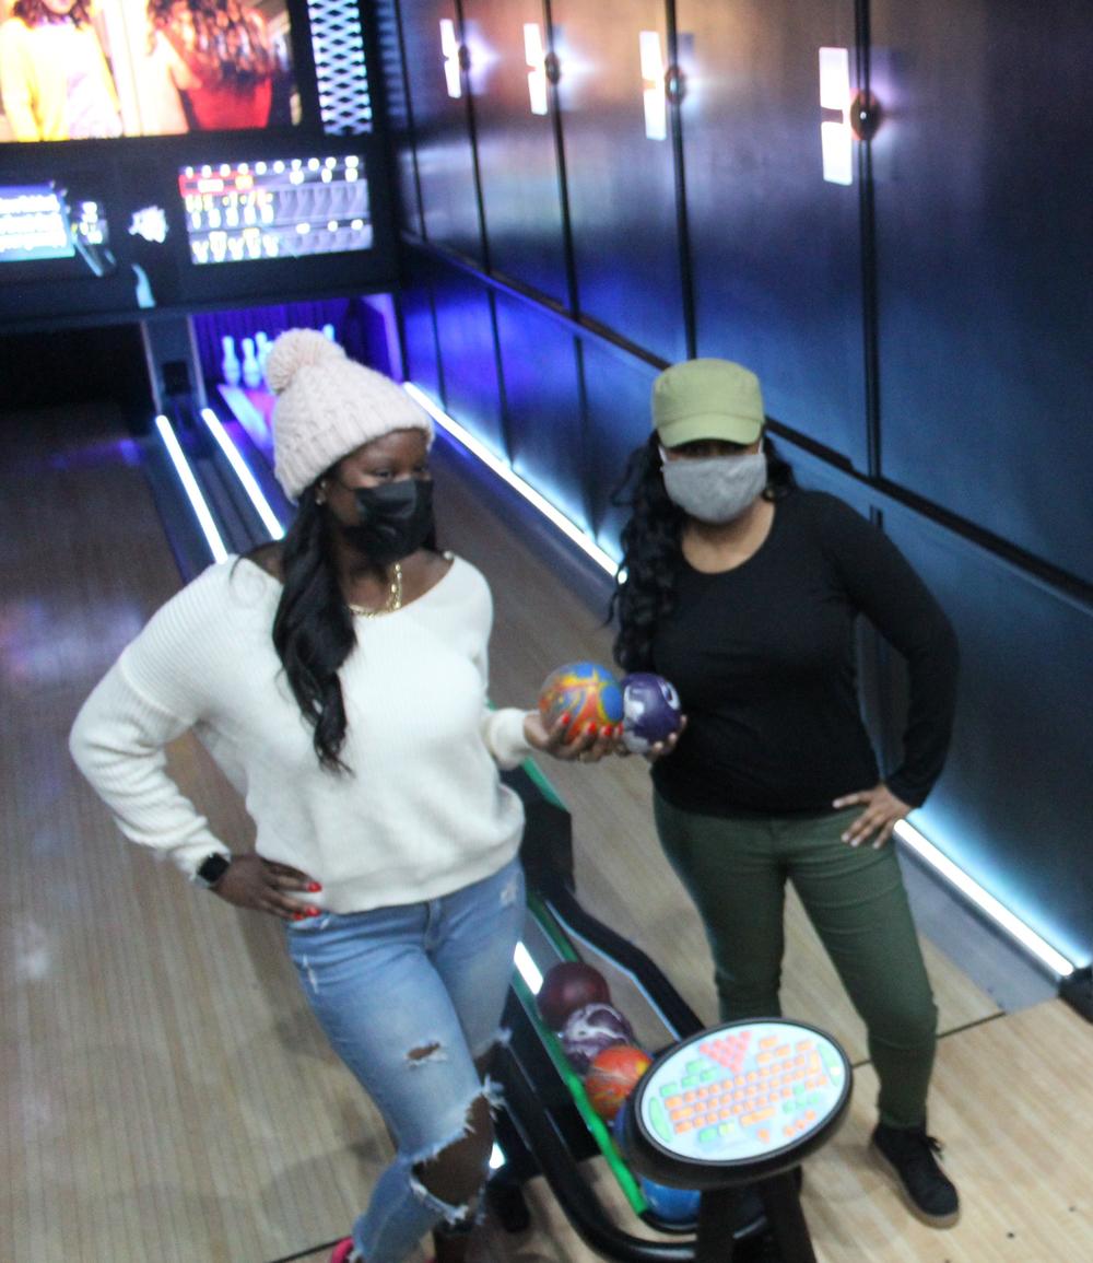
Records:
[[[338,671],[353,650],[356,634],[338,587],[329,524],[316,501],[314,484],[302,493],[281,541],[281,580],[274,648],[300,714],[314,729],[312,744],[319,763],[331,772],[348,772],[341,759],[346,706]]]

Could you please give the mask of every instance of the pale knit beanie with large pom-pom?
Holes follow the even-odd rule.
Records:
[[[361,443],[393,429],[423,429],[433,441],[433,422],[420,404],[313,328],[290,328],[276,338],[266,381],[278,397],[274,474],[292,500]]]

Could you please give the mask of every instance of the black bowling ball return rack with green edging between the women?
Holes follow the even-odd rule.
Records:
[[[521,859],[528,878],[529,926],[536,937],[549,945],[557,960],[582,959],[576,941],[627,975],[673,1032],[668,1043],[702,1031],[703,1022],[660,967],[582,907],[576,893],[572,820],[549,782],[530,763],[506,773],[505,779],[520,794],[528,817]],[[588,962],[597,964],[594,959]],[[519,971],[514,974],[504,1022],[510,1039],[501,1050],[493,1077],[505,1096],[496,1122],[505,1163],[487,1186],[495,1219],[509,1231],[526,1229],[531,1216],[523,1188],[541,1176],[574,1231],[601,1257],[618,1263],[693,1263],[698,1257],[695,1225],[661,1220],[649,1206],[611,1125],[589,1105],[579,1076],[558,1037],[543,1022],[535,994]],[[620,1224],[618,1211],[605,1206],[589,1180],[587,1159],[597,1157],[606,1163],[634,1216],[668,1239],[639,1236]],[[732,1257],[735,1263],[780,1263],[757,1200],[742,1204],[733,1221]]]

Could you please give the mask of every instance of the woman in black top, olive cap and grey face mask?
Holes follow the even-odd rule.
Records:
[[[722,1021],[780,1013],[790,879],[868,1029],[873,1149],[911,1210],[948,1226],[958,1196],[925,1129],[936,1008],[885,844],[944,763],[953,630],[885,534],[795,486],[748,370],[674,365],[653,410],[627,477],[615,654],[670,679],[688,716],[654,760],[654,807],[706,926]],[[904,758],[883,779],[860,714],[860,614],[909,669]]]

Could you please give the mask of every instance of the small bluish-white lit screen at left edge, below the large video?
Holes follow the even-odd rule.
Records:
[[[69,197],[53,181],[0,186],[0,263],[72,260],[72,272],[105,275],[114,268],[100,202]]]

